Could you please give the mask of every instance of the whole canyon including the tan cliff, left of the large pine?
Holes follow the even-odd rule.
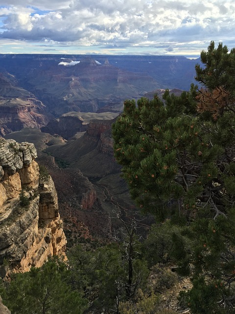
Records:
[[[167,87],[176,94],[188,89],[197,62],[166,56],[0,55],[5,138],[0,137],[0,148],[15,167],[3,163],[0,177],[2,276],[65,255],[65,234],[68,247],[82,238],[112,240],[116,212],[123,217],[136,212],[113,155],[112,123],[127,98],[161,96]],[[18,142],[35,145],[37,162],[33,144]],[[28,161],[24,146],[31,148]],[[46,167],[46,177],[38,163]],[[24,197],[27,210],[20,205]]]

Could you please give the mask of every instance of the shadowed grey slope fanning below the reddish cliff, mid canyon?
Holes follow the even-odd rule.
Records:
[[[67,160],[88,178],[100,178],[119,171],[113,156],[113,120],[92,120],[85,134],[65,145],[51,146],[47,152]]]

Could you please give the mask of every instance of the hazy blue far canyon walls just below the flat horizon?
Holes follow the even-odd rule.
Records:
[[[46,127],[53,118],[62,122],[61,115],[70,112],[118,114],[125,99],[160,89],[187,90],[197,62],[173,56],[2,54],[0,135]]]

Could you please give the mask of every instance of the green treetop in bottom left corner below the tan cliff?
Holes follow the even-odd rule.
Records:
[[[86,299],[68,284],[69,270],[58,260],[49,260],[41,268],[12,276],[0,288],[4,304],[14,314],[82,314]]]

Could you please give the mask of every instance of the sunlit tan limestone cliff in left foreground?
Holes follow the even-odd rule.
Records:
[[[65,257],[66,237],[51,177],[33,144],[0,138],[0,276]]]

